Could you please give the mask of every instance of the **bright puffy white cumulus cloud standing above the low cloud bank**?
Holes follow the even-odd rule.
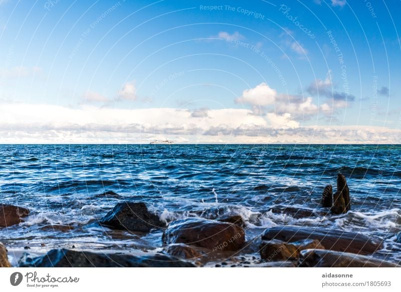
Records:
[[[274,104],[276,95],[277,91],[263,82],[254,88],[244,90],[236,102],[248,103],[253,106],[267,106]]]

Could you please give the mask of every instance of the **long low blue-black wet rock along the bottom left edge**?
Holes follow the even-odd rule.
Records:
[[[193,267],[172,256],[128,254],[52,249],[43,256],[31,258],[28,254],[19,261],[20,267]]]

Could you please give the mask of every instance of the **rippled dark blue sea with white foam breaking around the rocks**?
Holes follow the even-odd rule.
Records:
[[[286,224],[358,231],[385,239],[381,252],[399,260],[400,158],[399,145],[0,145],[0,201],[31,210],[24,223],[0,229],[0,241],[32,249],[161,246],[160,231],[138,237],[99,226],[126,200],[144,201],[167,222],[240,214],[248,239]],[[348,180],[351,212],[295,218],[269,211],[319,210],[338,173]]]

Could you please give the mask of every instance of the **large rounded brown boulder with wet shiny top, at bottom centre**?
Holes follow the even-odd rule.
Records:
[[[245,243],[245,231],[235,224],[187,218],[171,222],[162,240],[166,244],[192,244],[213,251],[238,250]]]

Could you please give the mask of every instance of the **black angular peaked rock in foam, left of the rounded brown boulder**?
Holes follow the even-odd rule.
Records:
[[[116,229],[148,232],[152,228],[164,227],[159,217],[147,210],[145,203],[118,203],[107,213],[100,224]]]

